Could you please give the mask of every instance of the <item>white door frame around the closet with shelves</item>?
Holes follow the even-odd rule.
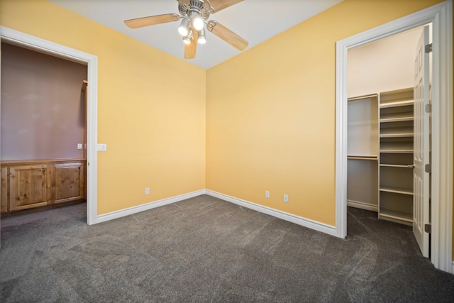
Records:
[[[347,55],[350,48],[432,23],[431,262],[453,270],[453,0],[336,43],[336,236],[347,236]]]

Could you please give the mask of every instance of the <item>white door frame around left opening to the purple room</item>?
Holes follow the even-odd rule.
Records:
[[[97,218],[98,57],[65,45],[0,26],[0,41],[87,65],[87,224]],[[1,227],[1,226],[0,226]]]

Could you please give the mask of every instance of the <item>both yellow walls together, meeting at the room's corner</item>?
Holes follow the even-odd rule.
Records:
[[[99,57],[99,214],[207,188],[334,225],[336,41],[438,2],[345,0],[206,72],[45,0],[0,25]]]

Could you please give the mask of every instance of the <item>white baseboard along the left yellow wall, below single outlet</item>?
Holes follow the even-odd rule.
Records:
[[[142,204],[138,206],[129,207],[128,209],[121,209],[119,211],[112,211],[107,214],[101,214],[96,217],[96,223],[101,223],[105,221],[110,221],[114,219],[121,218],[123,216],[129,216],[130,214],[136,214],[140,211],[147,211],[148,209],[154,209],[156,207],[164,206],[167,204],[172,204],[179,202],[185,199],[194,198],[206,194],[205,189],[197,190],[196,192],[189,192],[188,194],[180,194],[175,197],[170,197],[166,199],[157,200],[155,202],[150,202],[147,204]]]

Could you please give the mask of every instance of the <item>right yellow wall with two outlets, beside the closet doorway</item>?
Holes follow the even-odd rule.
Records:
[[[336,41],[438,2],[345,0],[208,70],[206,188],[335,225]]]

